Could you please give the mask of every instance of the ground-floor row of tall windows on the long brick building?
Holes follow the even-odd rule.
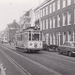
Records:
[[[61,45],[61,40],[62,40],[62,44],[64,44],[65,41],[71,41],[71,40],[75,41],[75,31],[73,31],[72,33],[70,31],[62,32],[62,34],[60,32],[57,32],[56,34],[47,33],[45,36],[46,36],[46,39],[45,39],[46,44]]]

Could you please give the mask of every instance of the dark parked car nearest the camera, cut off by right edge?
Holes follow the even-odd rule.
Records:
[[[68,56],[75,55],[75,42],[66,41],[63,45],[58,47],[59,54],[66,54]]]

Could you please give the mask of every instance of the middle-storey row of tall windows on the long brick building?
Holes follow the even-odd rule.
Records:
[[[60,27],[61,24],[62,26],[71,25],[71,20],[72,20],[71,15],[72,15],[71,11],[68,10],[67,14],[62,13],[62,15],[58,14],[57,17],[53,16],[53,17],[50,17],[49,19],[42,20],[40,29],[44,30],[49,28]],[[56,24],[56,21],[57,21],[57,24]],[[74,23],[75,23],[75,9],[74,9]]]

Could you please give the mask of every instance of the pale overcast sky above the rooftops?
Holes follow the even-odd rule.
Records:
[[[44,0],[0,0],[0,31],[14,19],[19,21],[20,16],[31,8],[36,8]]]

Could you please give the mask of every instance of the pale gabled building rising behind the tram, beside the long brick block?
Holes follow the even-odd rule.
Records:
[[[26,29],[30,26],[34,26],[34,11],[32,9],[28,10],[23,14],[23,16],[20,18],[20,28]]]

